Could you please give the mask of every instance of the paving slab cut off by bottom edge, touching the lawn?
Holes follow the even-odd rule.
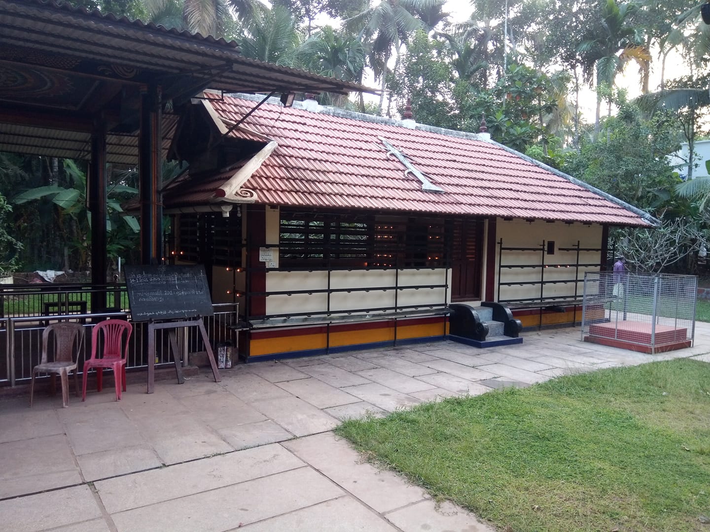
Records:
[[[479,521],[474,514],[449,501],[441,504],[430,500],[417,502],[392,511],[386,517],[403,532],[496,532],[493,526]]]

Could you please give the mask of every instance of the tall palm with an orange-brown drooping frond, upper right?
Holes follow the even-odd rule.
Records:
[[[651,60],[640,35],[635,28],[626,25],[635,9],[635,4],[616,4],[615,0],[606,0],[601,9],[601,21],[591,28],[586,39],[578,47],[584,77],[590,84],[596,84],[595,137],[599,133],[601,89],[611,89],[617,74],[623,72],[629,61],[643,65]],[[611,115],[611,97],[608,114]]]

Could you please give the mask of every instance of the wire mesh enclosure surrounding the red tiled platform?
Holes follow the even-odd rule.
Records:
[[[694,275],[587,272],[582,339],[644,353],[689,347],[696,298]]]

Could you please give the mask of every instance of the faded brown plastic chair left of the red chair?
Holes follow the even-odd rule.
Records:
[[[54,333],[54,361],[48,362],[49,335]],[[42,360],[32,368],[32,383],[30,384],[30,408],[35,392],[35,375],[38,373],[48,373],[54,379],[53,373],[58,373],[62,381],[62,406],[69,406],[69,372],[74,370],[74,387],[77,397],[79,397],[79,379],[77,378],[77,360],[74,358],[74,345],[77,345],[78,353],[81,353],[84,343],[84,327],[81,323],[62,321],[52,323],[45,327],[42,333]],[[54,383],[52,383],[54,386]]]

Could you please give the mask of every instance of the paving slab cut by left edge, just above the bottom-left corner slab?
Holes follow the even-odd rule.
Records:
[[[63,434],[0,443],[0,497],[82,482]]]

